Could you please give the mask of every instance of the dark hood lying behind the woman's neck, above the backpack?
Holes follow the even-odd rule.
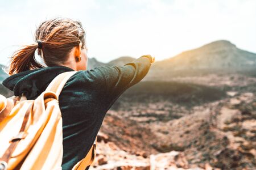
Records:
[[[9,76],[2,84],[14,92],[15,96],[26,95],[27,99],[35,99],[39,96],[51,81],[60,73],[75,71],[66,66],[52,66],[40,69],[27,70]]]

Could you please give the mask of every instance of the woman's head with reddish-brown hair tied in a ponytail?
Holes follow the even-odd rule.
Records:
[[[85,70],[87,65],[85,36],[79,21],[58,17],[42,22],[36,29],[34,44],[24,45],[11,56],[9,75],[44,67],[35,59],[37,41],[42,43],[38,54],[47,66],[75,64],[77,70]]]

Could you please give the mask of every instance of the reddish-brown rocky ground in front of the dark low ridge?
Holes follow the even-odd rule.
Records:
[[[256,86],[235,85],[192,107],[123,107],[121,98],[106,114],[91,169],[256,169]]]

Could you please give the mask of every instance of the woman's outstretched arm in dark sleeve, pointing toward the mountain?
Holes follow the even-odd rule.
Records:
[[[95,67],[83,71],[86,79],[81,80],[88,83],[88,88],[94,86],[97,96],[101,96],[99,100],[106,104],[108,110],[127,88],[140,82],[146,76],[152,62],[154,62],[154,57],[145,55],[123,66]]]

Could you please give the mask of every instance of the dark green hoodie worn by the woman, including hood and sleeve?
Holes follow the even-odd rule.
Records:
[[[72,169],[85,157],[106,112],[127,88],[146,76],[150,66],[151,57],[142,56],[123,66],[80,70],[69,78],[59,96],[63,118],[63,169]],[[3,80],[3,86],[14,91],[15,96],[24,92],[28,100],[36,99],[55,76],[65,71],[74,70],[53,66],[23,71]]]

